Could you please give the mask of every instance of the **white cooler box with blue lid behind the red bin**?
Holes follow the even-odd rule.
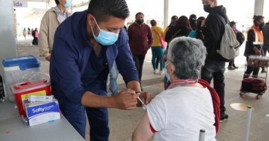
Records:
[[[19,56],[14,58],[4,58],[3,65],[3,83],[6,89],[6,96],[11,102],[14,102],[14,95],[10,85],[21,83],[31,79],[34,73],[39,72],[40,62],[34,56]]]

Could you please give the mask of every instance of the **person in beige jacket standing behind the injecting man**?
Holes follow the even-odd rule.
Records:
[[[66,9],[72,6],[72,0],[55,0],[55,3],[57,6],[44,14],[39,31],[39,55],[45,57],[47,61],[50,61],[55,30],[60,23],[70,17],[70,12]]]

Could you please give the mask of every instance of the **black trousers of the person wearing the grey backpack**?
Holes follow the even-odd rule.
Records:
[[[220,99],[219,109],[221,111],[221,117],[225,116],[226,107],[225,104],[225,82],[224,82],[225,62],[218,61],[206,61],[205,65],[201,69],[201,78],[211,83],[214,79],[214,89],[217,91]]]

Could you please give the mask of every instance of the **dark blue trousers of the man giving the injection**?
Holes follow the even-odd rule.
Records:
[[[104,95],[102,95],[104,96]],[[72,127],[85,138],[86,135],[86,113],[90,123],[91,141],[108,141],[110,133],[108,127],[107,108],[86,108],[83,105],[74,105],[66,100],[60,105],[63,116],[66,117]]]

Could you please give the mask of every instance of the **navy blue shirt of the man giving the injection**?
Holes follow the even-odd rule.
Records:
[[[86,91],[106,96],[108,73],[116,61],[127,84],[137,80],[138,73],[124,29],[113,45],[103,46],[96,56],[86,30],[87,12],[75,12],[63,21],[54,35],[50,60],[52,94],[61,102],[81,104]]]

